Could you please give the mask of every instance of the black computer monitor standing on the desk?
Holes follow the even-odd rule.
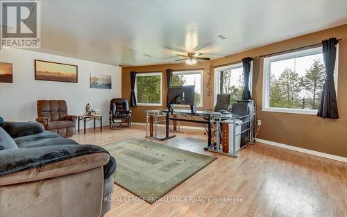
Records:
[[[174,107],[172,107],[173,104],[190,105],[192,112],[196,112],[196,106],[194,104],[194,85],[169,87],[167,96],[169,102],[168,108],[171,112],[174,110]]]

